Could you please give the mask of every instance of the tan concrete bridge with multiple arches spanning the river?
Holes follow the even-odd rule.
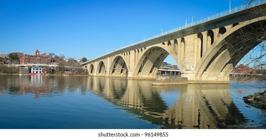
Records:
[[[90,60],[90,75],[156,78],[171,55],[189,83],[229,83],[238,62],[265,38],[266,0],[241,5]],[[258,39],[260,38],[260,39]]]

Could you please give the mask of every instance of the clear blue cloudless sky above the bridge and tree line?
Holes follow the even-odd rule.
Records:
[[[227,9],[229,0],[0,0],[0,53],[93,59]]]

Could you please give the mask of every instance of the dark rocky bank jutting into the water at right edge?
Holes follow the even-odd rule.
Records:
[[[252,95],[244,96],[245,103],[260,109],[266,109],[266,90]]]

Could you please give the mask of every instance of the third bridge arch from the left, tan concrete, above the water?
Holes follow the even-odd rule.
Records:
[[[111,65],[109,75],[111,76],[128,76],[128,64],[123,57],[117,56]]]

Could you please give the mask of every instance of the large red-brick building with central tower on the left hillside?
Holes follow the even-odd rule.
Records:
[[[44,54],[40,54],[39,50],[35,51],[35,55],[27,55],[25,54],[23,57],[19,58],[20,64],[51,64],[51,56]]]

